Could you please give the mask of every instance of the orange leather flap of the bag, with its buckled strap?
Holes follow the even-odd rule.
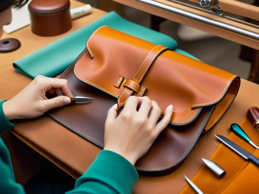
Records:
[[[130,95],[155,100],[162,115],[172,104],[175,126],[194,121],[202,107],[239,88],[240,78],[229,72],[107,26],[97,29],[86,47],[74,67],[79,80],[118,98],[119,108]]]

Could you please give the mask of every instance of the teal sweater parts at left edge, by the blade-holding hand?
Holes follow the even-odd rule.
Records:
[[[12,129],[15,124],[9,122],[3,111],[3,101],[0,101],[0,133]],[[23,186],[15,182],[11,158],[7,147],[0,138],[0,191],[1,193],[25,193]]]

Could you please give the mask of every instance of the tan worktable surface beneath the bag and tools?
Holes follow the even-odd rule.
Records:
[[[72,0],[71,7],[81,6],[82,3]],[[73,28],[66,34],[83,27],[104,16],[106,12],[93,8],[92,14],[74,20]],[[55,37],[39,37],[32,34],[30,26],[12,34],[4,34],[4,38],[17,38],[21,48],[7,54],[0,54],[0,99],[10,99],[31,82],[30,78],[18,73],[12,62],[40,49],[54,40],[66,35]],[[179,193],[185,186],[183,174],[192,178],[203,165],[201,158],[210,158],[219,143],[214,133],[227,136],[231,123],[240,123],[251,106],[259,106],[259,86],[247,80],[241,80],[240,91],[232,106],[203,138],[200,138],[183,165],[174,173],[163,177],[140,177],[135,188],[135,194]],[[11,131],[20,140],[32,147],[38,153],[55,163],[71,176],[78,178],[94,161],[100,149],[82,139],[75,133],[64,128],[49,117],[41,117],[24,121]]]

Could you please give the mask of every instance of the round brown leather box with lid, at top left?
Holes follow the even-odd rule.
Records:
[[[39,36],[56,36],[72,27],[69,0],[32,0],[28,5],[31,30]]]

